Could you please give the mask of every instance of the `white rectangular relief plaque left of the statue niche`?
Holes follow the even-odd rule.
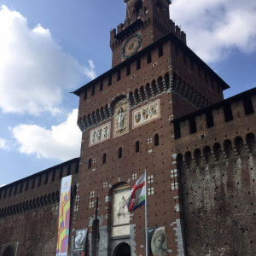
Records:
[[[110,138],[111,123],[101,125],[90,131],[89,147],[102,143]]]

